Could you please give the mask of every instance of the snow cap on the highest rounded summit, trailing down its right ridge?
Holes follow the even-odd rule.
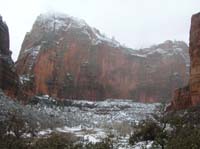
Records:
[[[107,42],[113,47],[121,46],[114,38],[110,39],[102,35],[97,29],[90,27],[84,20],[63,13],[50,12],[41,14],[37,18],[36,23],[42,26],[43,30],[46,32],[58,32],[60,30],[67,32],[71,28],[78,28],[80,32],[88,36],[93,45]]]

